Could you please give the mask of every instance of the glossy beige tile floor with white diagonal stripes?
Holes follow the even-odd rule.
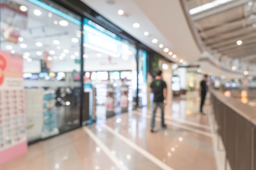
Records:
[[[198,105],[194,93],[173,98],[165,108],[167,129],[161,129],[158,114],[156,133],[150,133],[147,108],[99,120],[29,146],[0,170],[217,170],[209,99],[206,116]]]

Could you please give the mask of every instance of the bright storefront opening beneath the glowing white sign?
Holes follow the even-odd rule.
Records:
[[[92,117],[104,119],[132,108],[137,89],[135,46],[88,19],[83,45],[84,83],[94,90]]]

